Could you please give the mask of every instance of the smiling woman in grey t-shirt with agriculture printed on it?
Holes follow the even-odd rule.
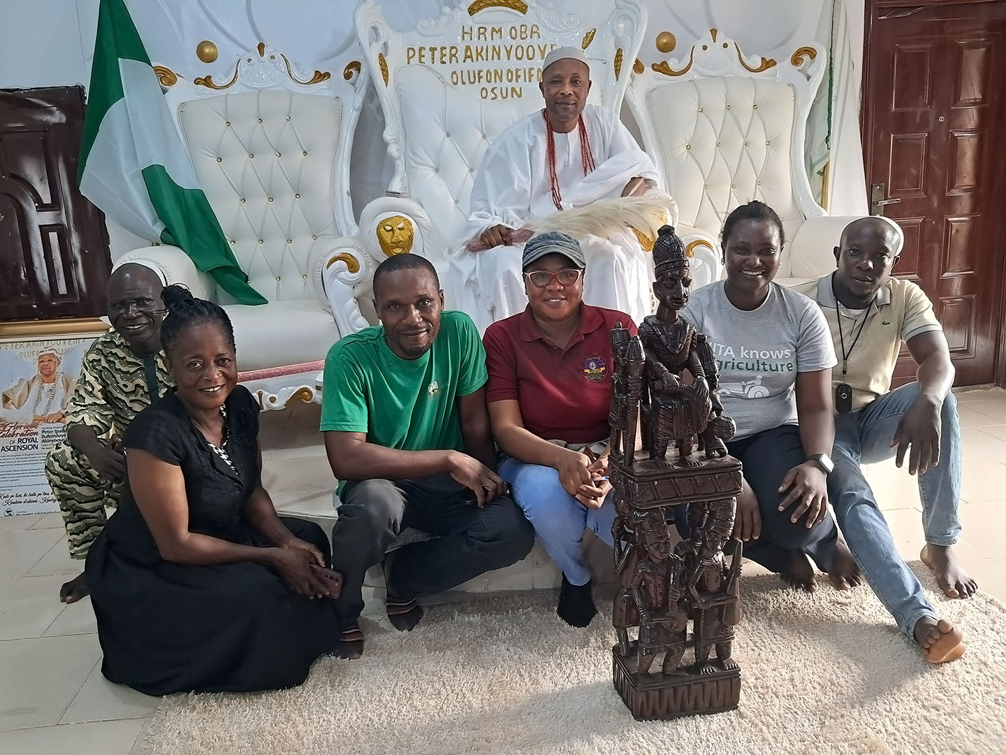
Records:
[[[828,324],[817,305],[773,283],[784,231],[769,205],[734,209],[721,235],[726,280],[696,291],[682,314],[709,338],[719,398],[737,423],[727,444],[744,466],[735,539],[744,556],[814,589],[814,567],[838,588],[859,584],[828,512],[835,421]]]

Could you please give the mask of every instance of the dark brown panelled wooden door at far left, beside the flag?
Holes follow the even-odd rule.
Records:
[[[0,322],[105,314],[101,211],[76,187],[83,89],[0,92]]]

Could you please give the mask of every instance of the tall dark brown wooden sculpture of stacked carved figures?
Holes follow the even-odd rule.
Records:
[[[679,315],[691,276],[674,229],[660,230],[653,257],[657,314],[636,337],[621,325],[611,333],[609,474],[619,573],[612,655],[615,687],[637,719],[718,713],[740,698],[740,669],[731,657],[740,619],[739,544],[729,560],[723,555],[741,486],[740,462],[726,455],[724,443],[735,427],[715,396],[712,349]],[[649,453],[637,453],[637,422]],[[668,457],[672,442],[678,453]],[[689,506],[691,536],[674,546],[670,522],[681,505]]]

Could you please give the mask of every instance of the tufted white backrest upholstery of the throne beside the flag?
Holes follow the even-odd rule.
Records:
[[[312,254],[342,236],[333,202],[341,120],[338,99],[290,92],[179,108],[199,183],[241,270],[270,302],[317,302]]]

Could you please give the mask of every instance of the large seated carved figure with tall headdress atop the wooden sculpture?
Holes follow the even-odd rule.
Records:
[[[701,461],[692,456],[694,438],[707,459],[726,456],[722,437],[728,428],[709,420],[723,412],[716,398],[718,371],[712,348],[695,326],[682,318],[688,303],[691,265],[684,245],[670,225],[660,229],[653,247],[656,281],[653,293],[659,302],[657,313],[646,317],[639,327],[646,352],[647,446],[650,458],[665,462],[670,442],[676,441],[679,463],[694,467]],[[692,382],[682,381],[685,370]]]

